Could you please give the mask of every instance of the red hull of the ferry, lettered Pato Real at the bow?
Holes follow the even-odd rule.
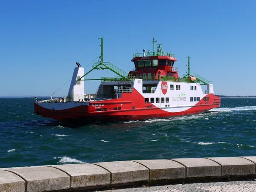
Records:
[[[140,95],[140,93],[137,93],[136,95]],[[204,113],[212,108],[217,108],[220,106],[219,97],[214,96],[214,94],[209,94],[207,95],[207,97],[209,97],[209,101],[204,101],[203,99],[201,99],[201,101],[199,101],[196,105],[192,106],[191,108],[179,112],[166,111],[168,110],[168,108],[158,108],[151,103],[145,104],[144,98],[141,97],[133,97],[136,99],[131,99],[131,97],[129,97],[129,93],[123,94],[123,97],[120,99],[103,100],[99,102],[88,102],[88,105],[81,105],[74,108],[68,108],[63,110],[47,109],[44,108],[43,105],[38,105],[38,103],[36,102],[34,103],[34,105],[35,113],[37,115],[49,117],[57,121],[70,121],[75,119],[87,122],[129,121],[153,118],[168,118],[172,116],[183,116],[195,113]],[[95,108],[91,107],[92,104],[96,103],[104,104],[108,111],[96,111]],[[45,104],[47,105],[47,103]],[[56,103],[56,105],[58,105],[58,103]],[[122,109],[115,111],[113,110],[113,108],[116,108],[121,105]],[[133,106],[135,106],[136,108],[133,109]]]

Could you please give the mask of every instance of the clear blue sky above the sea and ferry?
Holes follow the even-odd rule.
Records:
[[[174,52],[179,75],[213,81],[221,95],[256,95],[256,1],[0,0],[0,96],[49,96],[100,54],[122,70],[134,68],[152,37]],[[96,59],[97,60],[97,59]],[[96,61],[95,60],[95,61]],[[91,69],[91,64],[84,70]],[[96,70],[87,78],[115,76]],[[54,96],[67,96],[70,82]],[[86,81],[95,93],[99,81]]]

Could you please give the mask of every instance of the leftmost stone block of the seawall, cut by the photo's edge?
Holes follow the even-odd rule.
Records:
[[[0,192],[24,192],[25,180],[14,173],[0,170]]]

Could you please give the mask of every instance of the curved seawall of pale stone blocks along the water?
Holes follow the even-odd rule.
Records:
[[[77,191],[256,176],[255,157],[133,160],[0,169],[0,192]]]

